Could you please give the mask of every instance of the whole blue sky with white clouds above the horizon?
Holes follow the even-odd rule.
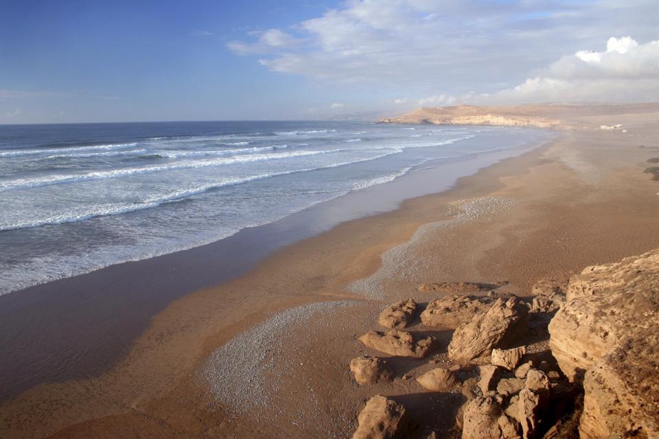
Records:
[[[0,123],[658,101],[656,0],[0,0]]]

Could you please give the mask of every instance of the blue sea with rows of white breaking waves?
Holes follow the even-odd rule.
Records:
[[[337,121],[0,126],[0,294],[203,246],[543,130]]]

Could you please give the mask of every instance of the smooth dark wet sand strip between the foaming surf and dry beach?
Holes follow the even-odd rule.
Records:
[[[151,318],[174,300],[242,276],[281,248],[343,222],[393,211],[406,200],[450,190],[461,174],[472,175],[543,143],[546,140],[463,160],[431,161],[384,185],[352,191],[204,246],[2,295],[0,333],[5,336],[0,351],[12,352],[14,361],[0,364],[0,402],[39,383],[100,375],[121,361]],[[437,174],[442,177],[436,178]],[[80,337],[82,331],[84,337]]]

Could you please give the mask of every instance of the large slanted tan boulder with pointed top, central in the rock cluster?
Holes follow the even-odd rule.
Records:
[[[448,356],[470,361],[489,355],[492,348],[518,337],[527,326],[529,307],[518,298],[498,298],[486,312],[459,326],[448,345]]]

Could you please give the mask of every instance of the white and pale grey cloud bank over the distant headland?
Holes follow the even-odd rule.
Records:
[[[646,0],[351,0],[228,47],[277,73],[402,89],[401,106],[650,100],[656,12]]]

